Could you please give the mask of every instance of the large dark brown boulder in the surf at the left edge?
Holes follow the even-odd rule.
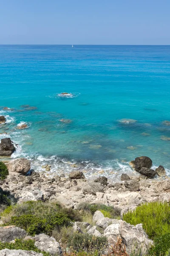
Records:
[[[10,138],[1,139],[0,156],[10,157],[15,150],[14,144]]]

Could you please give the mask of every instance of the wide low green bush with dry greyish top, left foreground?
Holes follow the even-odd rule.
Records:
[[[71,209],[62,208],[59,204],[28,201],[23,204],[8,207],[2,214],[4,225],[15,225],[23,228],[30,235],[45,233],[51,235],[52,230],[68,227],[76,220]]]

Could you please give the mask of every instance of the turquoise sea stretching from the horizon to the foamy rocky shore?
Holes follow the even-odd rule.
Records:
[[[113,177],[146,155],[169,170],[170,46],[1,45],[0,108],[0,138],[11,137],[12,157],[30,158],[34,169],[50,163],[61,173],[77,163],[89,177]],[[28,128],[16,129],[20,122]]]

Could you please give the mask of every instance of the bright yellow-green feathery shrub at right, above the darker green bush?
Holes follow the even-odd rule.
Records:
[[[170,233],[170,205],[167,202],[151,202],[136,207],[123,215],[123,220],[136,225],[143,224],[149,238]]]

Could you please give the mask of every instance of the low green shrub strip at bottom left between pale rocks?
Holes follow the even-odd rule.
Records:
[[[34,251],[37,253],[42,253],[43,256],[50,256],[49,253],[46,253],[44,251],[39,250],[37,247],[34,245],[35,241],[28,239],[28,240],[23,240],[23,239],[16,239],[15,243],[8,243],[8,242],[1,242],[0,241],[0,250],[3,249],[10,249],[10,250],[28,250],[28,251]]]

